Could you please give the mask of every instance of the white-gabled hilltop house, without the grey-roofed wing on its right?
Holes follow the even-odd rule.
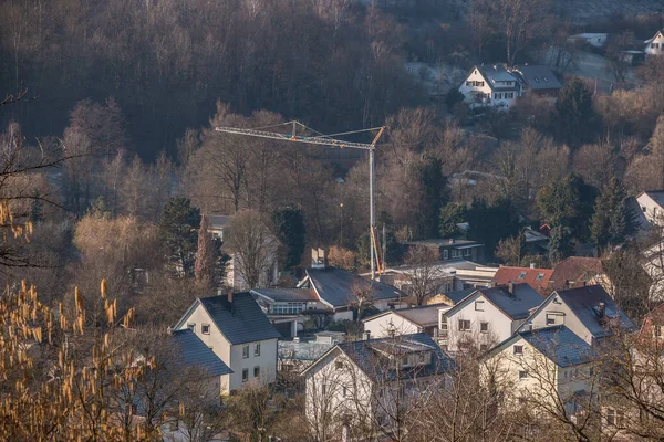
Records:
[[[476,65],[459,86],[470,106],[508,109],[521,95],[521,83],[500,64]]]

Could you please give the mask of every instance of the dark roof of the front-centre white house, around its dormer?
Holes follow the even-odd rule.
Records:
[[[356,340],[354,343],[338,344],[336,347],[352,359],[374,382],[442,375],[455,368],[452,358],[424,333]],[[398,355],[422,351],[432,351],[432,362],[426,366],[403,370],[394,369],[394,361],[388,364],[385,360],[387,358],[384,356],[387,354],[398,357]]]

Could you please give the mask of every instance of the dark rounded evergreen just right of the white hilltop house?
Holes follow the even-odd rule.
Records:
[[[592,93],[579,78],[572,78],[560,90],[553,123],[559,137],[571,146],[592,138],[595,114]]]

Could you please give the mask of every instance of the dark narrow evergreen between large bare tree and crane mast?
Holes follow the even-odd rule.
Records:
[[[272,213],[272,223],[274,224],[277,238],[286,248],[283,266],[289,270],[300,265],[307,244],[307,229],[302,209],[294,206],[277,209]]]

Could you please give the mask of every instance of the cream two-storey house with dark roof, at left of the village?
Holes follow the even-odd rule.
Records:
[[[174,327],[187,328],[232,370],[221,376],[222,393],[276,380],[281,335],[250,293],[197,298]]]

